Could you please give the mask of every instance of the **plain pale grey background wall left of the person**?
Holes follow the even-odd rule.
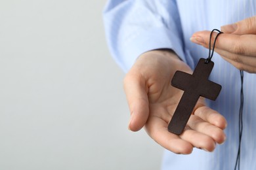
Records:
[[[106,1],[0,1],[0,169],[160,169],[127,130],[124,73],[108,52]]]

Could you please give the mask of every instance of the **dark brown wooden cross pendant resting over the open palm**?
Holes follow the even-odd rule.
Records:
[[[200,96],[211,100],[218,97],[221,92],[221,85],[208,80],[213,65],[213,61],[205,63],[205,59],[201,58],[193,75],[176,71],[171,85],[184,90],[184,93],[168,126],[168,131],[171,133],[181,135]]]

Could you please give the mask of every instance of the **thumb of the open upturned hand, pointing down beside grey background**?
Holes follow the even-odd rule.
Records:
[[[146,124],[149,114],[146,80],[141,75],[128,73],[123,85],[131,112],[128,128],[139,131]]]

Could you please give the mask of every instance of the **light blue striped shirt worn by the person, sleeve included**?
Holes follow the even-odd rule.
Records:
[[[254,0],[112,0],[104,10],[106,37],[117,64],[128,71],[140,54],[171,48],[192,69],[208,50],[190,42],[196,31],[219,29],[254,16]],[[256,48],[256,47],[255,47]],[[238,151],[240,72],[218,54],[210,79],[223,86],[217,101],[207,101],[228,122],[226,142],[214,152],[190,155],[165,151],[162,169],[234,169]],[[244,73],[244,130],[241,169],[256,169],[256,75]]]

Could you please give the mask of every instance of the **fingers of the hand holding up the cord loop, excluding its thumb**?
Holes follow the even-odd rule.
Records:
[[[194,33],[191,41],[200,44],[205,48],[209,48],[209,31],[200,31]],[[211,42],[214,41],[217,33],[213,33]],[[213,46],[213,44],[211,44]],[[234,67],[256,73],[256,35],[219,35],[215,51],[221,55],[226,61],[230,62]]]

